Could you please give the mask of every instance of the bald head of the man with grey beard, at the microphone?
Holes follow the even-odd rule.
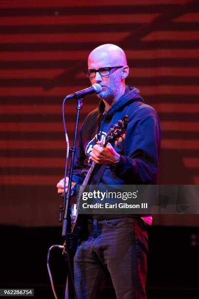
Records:
[[[98,83],[102,86],[102,91],[98,96],[111,105],[124,93],[124,80],[129,72],[126,64],[124,51],[115,44],[102,44],[95,48],[88,57],[88,69],[99,70],[103,67],[122,66],[111,69],[107,76],[101,76],[99,72],[96,72],[96,76],[90,78],[92,85]]]

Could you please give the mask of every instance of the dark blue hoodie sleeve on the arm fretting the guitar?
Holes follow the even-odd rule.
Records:
[[[156,184],[159,166],[159,118],[148,116],[128,124],[124,155],[112,171],[126,184]]]

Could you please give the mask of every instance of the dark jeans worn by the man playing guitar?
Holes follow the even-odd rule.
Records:
[[[78,299],[99,298],[107,271],[117,299],[146,299],[148,238],[143,220],[88,220],[88,232],[74,258]]]

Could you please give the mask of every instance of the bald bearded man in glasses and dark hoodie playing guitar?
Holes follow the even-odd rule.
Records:
[[[83,181],[82,170],[88,158],[99,167],[106,165],[99,184],[157,183],[159,117],[152,107],[144,104],[137,88],[125,85],[128,73],[125,53],[117,45],[100,45],[88,57],[85,74],[92,85],[98,83],[102,90],[97,95],[99,107],[89,113],[80,128],[73,175],[76,184]],[[125,115],[129,117],[126,135],[102,148],[103,136]],[[63,180],[57,187],[62,194]],[[151,224],[151,216],[98,214],[88,215],[86,221],[87,232],[74,258],[78,299],[100,298],[108,275],[117,299],[146,299],[146,227]]]

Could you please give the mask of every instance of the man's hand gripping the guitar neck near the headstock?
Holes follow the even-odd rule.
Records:
[[[108,143],[105,148],[101,148],[100,145],[101,141],[98,141],[93,147],[93,150],[90,152],[89,155],[91,156],[92,160],[97,164],[115,166],[119,162],[119,154],[115,151],[110,143]]]

